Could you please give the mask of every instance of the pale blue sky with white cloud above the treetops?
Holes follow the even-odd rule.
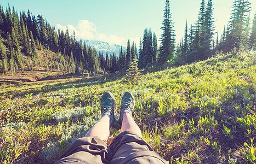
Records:
[[[221,33],[229,21],[233,0],[213,0],[216,32]],[[41,14],[50,25],[56,28],[69,28],[75,31],[78,39],[92,39],[121,44],[126,46],[127,40],[139,43],[145,28],[151,27],[159,39],[163,20],[165,0],[2,0],[4,9],[8,3],[19,12],[30,9],[33,15]],[[194,24],[201,0],[170,0],[177,42],[183,37],[185,22]],[[256,10],[256,1],[251,0],[251,17]],[[158,41],[158,44],[160,41]]]

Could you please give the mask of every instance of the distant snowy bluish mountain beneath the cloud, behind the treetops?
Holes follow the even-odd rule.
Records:
[[[99,40],[83,40],[86,45],[94,47],[97,52],[103,52],[103,55],[107,54],[113,54],[115,53],[117,56],[119,56],[119,52],[121,49],[121,45],[116,44],[109,44],[107,42],[101,42]],[[126,47],[123,47],[123,50],[126,50]]]

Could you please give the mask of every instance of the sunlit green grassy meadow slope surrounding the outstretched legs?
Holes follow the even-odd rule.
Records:
[[[4,89],[0,103],[1,163],[54,162],[100,118],[111,91],[135,97],[143,137],[170,163],[253,163],[256,149],[256,52],[124,78],[62,80]],[[119,125],[111,129],[118,133]]]

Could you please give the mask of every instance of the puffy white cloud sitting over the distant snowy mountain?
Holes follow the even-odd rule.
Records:
[[[55,27],[57,30],[60,29],[64,32],[68,29],[71,35],[73,35],[73,31],[75,31],[75,37],[77,39],[100,40],[102,42],[118,45],[126,45],[125,43],[127,42],[123,37],[117,37],[115,35],[106,36],[104,33],[97,32],[96,25],[88,20],[80,20],[76,27],[73,25],[61,26],[60,24],[57,24]]]

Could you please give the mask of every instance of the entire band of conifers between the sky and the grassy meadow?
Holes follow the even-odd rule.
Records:
[[[32,15],[30,10],[17,13],[10,6],[0,7],[0,71],[15,72],[33,70],[37,66],[45,70],[58,70],[71,73],[95,73],[126,71],[129,67],[140,69],[162,66],[168,61],[184,65],[211,57],[217,51],[248,50],[256,47],[256,14],[250,26],[248,0],[234,0],[230,21],[223,33],[214,32],[213,1],[202,0],[195,24],[185,24],[184,37],[175,42],[174,22],[170,13],[170,2],[164,7],[160,46],[157,46],[156,33],[145,28],[139,48],[127,42],[127,48],[120,54],[103,54],[70,35],[68,30],[55,30],[42,15]],[[214,39],[214,35],[217,38]],[[40,58],[39,50],[47,60]],[[131,65],[132,64],[132,65]]]

